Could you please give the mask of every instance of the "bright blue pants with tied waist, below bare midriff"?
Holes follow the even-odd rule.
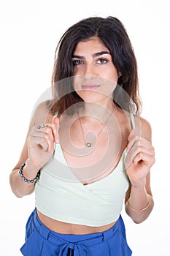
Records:
[[[26,224],[25,256],[131,256],[120,216],[116,224],[101,233],[69,235],[55,233],[40,222],[36,209]]]

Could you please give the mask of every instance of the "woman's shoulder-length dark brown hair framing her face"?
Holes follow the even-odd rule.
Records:
[[[130,112],[140,113],[139,84],[136,57],[123,23],[117,18],[91,17],[80,20],[63,34],[55,51],[52,75],[53,100],[51,112],[63,111],[83,99],[74,91],[72,55],[76,45],[91,37],[98,37],[108,48],[112,62],[120,72],[117,87],[113,94],[115,104]],[[67,80],[67,79],[69,80]],[[68,83],[69,81],[69,83]]]

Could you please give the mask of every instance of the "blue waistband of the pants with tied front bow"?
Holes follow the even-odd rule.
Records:
[[[120,215],[115,225],[113,225],[113,227],[109,228],[109,230],[106,230],[104,232],[85,234],[85,235],[61,234],[61,233],[56,233],[48,229],[45,225],[43,225],[36,213],[36,209],[34,209],[34,226],[38,231],[38,233],[41,236],[43,236],[45,239],[55,244],[58,244],[58,245],[67,244],[71,249],[74,249],[74,246],[76,244],[83,244],[85,246],[90,246],[90,245],[99,244],[103,241],[107,241],[109,240],[109,238],[116,235],[117,230],[122,224],[123,224],[123,219]]]

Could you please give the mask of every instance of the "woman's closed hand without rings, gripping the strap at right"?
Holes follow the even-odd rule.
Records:
[[[143,184],[154,162],[155,151],[150,141],[136,135],[135,129],[132,129],[128,136],[125,167],[133,186]]]

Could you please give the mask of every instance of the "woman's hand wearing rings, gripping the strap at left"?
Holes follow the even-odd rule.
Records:
[[[36,124],[31,127],[27,138],[27,164],[32,170],[39,170],[47,163],[54,151],[54,143],[59,143],[59,118],[53,124]]]

